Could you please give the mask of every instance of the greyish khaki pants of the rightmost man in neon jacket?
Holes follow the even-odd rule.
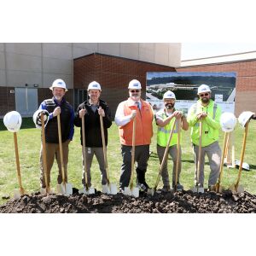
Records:
[[[194,149],[194,160],[195,160],[195,183],[196,183],[199,147],[196,145],[193,145],[193,149]],[[221,149],[218,146],[218,142],[212,143],[207,147],[201,147],[201,167],[200,167],[200,176],[199,176],[199,183],[201,185],[203,185],[204,178],[205,178],[204,166],[205,166],[206,154],[207,154],[210,169],[211,169],[209,180],[208,180],[208,186],[212,186],[217,183],[219,167],[220,167]]]

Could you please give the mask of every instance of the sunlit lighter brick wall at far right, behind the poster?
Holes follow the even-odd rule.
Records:
[[[177,67],[177,72],[236,72],[236,115],[256,112],[256,60]]]

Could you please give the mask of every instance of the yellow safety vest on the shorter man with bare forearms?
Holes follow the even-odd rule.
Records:
[[[162,119],[166,119],[168,116],[166,115],[165,109],[161,109],[156,115],[160,116]],[[176,121],[176,118],[173,118],[169,124],[164,127],[158,126],[157,129],[157,144],[161,147],[166,147],[168,143],[168,139],[170,137],[170,132],[172,130],[172,125]],[[170,146],[177,145],[177,124],[174,125],[174,131],[172,133],[172,139]]]

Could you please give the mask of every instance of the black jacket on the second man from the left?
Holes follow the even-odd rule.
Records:
[[[112,125],[111,112],[106,102],[100,100],[100,107],[105,111],[105,117],[103,117],[103,126],[106,146],[108,145],[108,128]],[[79,111],[85,108],[87,113],[84,115],[84,130],[85,130],[85,146],[90,148],[102,148],[102,131],[100,123],[100,115],[98,111],[94,113],[90,108],[89,102],[83,102],[79,105],[77,112],[75,113],[74,125],[82,127],[82,119],[79,118]],[[82,140],[82,128],[80,129],[81,145]]]

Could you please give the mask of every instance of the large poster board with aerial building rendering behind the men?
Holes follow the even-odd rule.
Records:
[[[172,90],[176,96],[175,107],[188,113],[197,100],[197,88],[207,84],[212,90],[212,100],[222,112],[235,113],[236,73],[198,72],[148,72],[146,85],[147,102],[154,111],[164,108],[163,95]]]

